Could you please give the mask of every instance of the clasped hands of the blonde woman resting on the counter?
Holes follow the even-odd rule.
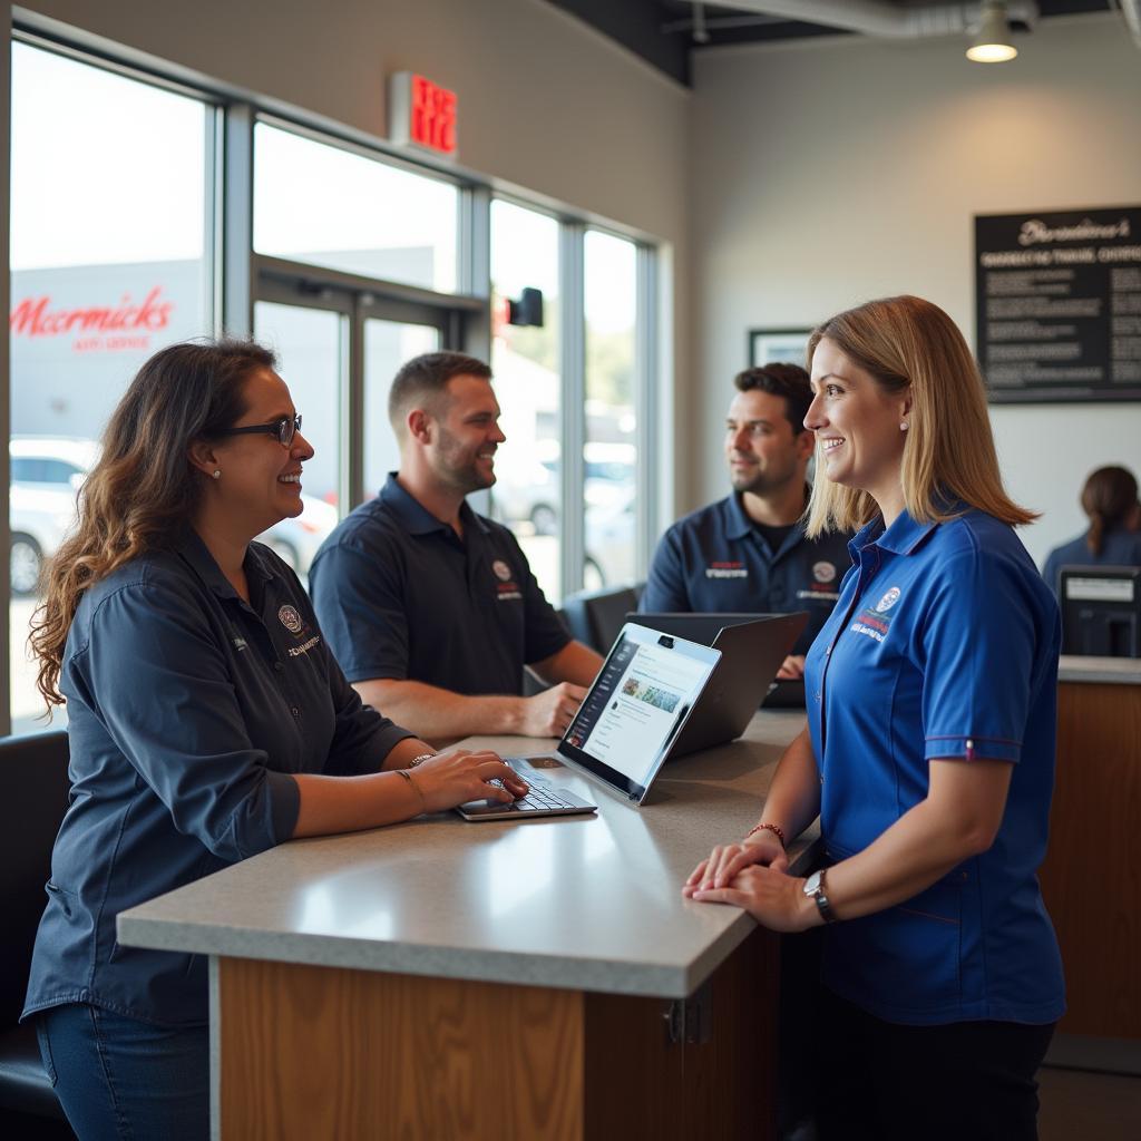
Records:
[[[780,842],[771,832],[762,832],[739,844],[718,844],[681,893],[702,904],[735,904],[772,931],[803,931],[812,925],[803,883],[788,875]]]

